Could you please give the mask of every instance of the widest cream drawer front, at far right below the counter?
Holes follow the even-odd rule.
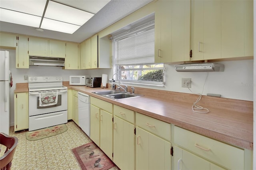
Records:
[[[244,150],[174,126],[174,142],[228,169],[244,169]]]

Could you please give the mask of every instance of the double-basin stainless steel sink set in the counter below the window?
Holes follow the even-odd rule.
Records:
[[[92,92],[92,93],[102,95],[102,96],[105,96],[105,97],[109,97],[109,98],[114,99],[114,100],[142,96],[142,95],[139,95],[139,94],[131,94],[131,93],[128,93],[128,92],[117,91],[117,90],[97,91],[97,92]]]

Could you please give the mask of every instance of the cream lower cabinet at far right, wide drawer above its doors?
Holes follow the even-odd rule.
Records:
[[[174,126],[174,143],[179,146],[174,147],[176,169],[178,167],[181,170],[252,169],[250,150],[225,144],[176,126]]]

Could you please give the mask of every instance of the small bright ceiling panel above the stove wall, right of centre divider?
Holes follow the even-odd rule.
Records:
[[[80,26],[44,18],[42,21],[41,28],[46,30],[53,30],[73,34],[76,30],[78,30],[78,28],[80,28]]]

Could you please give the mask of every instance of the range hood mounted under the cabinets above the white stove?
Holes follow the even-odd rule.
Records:
[[[29,65],[65,66],[65,58],[29,56]]]

